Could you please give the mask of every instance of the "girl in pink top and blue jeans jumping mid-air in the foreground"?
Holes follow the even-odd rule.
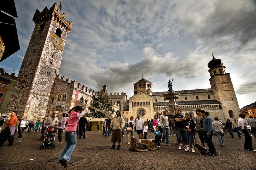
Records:
[[[71,154],[76,147],[76,126],[79,117],[82,117],[87,111],[82,111],[81,106],[72,108],[65,117],[69,117],[68,126],[65,130],[65,140],[67,142],[62,153],[60,154],[59,161],[64,168],[67,168],[67,162],[71,158]]]

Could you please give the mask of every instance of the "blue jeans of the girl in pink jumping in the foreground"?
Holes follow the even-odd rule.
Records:
[[[60,154],[59,160],[65,159],[69,162],[71,158],[71,153],[76,147],[76,132],[65,131],[65,140],[67,142],[66,146],[64,147],[63,151]]]

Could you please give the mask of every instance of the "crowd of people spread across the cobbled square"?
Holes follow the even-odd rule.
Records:
[[[79,139],[85,138],[86,132],[86,113],[81,106],[76,106],[72,108],[68,114],[63,114],[61,120],[56,116],[56,112],[53,111],[51,116],[45,117],[44,120],[27,120],[26,117],[20,119],[19,116],[16,116],[16,112],[13,111],[8,113],[6,119],[0,114],[0,126],[2,126],[0,132],[0,147],[4,143],[9,143],[7,146],[12,146],[14,141],[14,136],[16,132],[19,134],[18,139],[23,138],[24,130],[27,130],[28,133],[33,130],[38,132],[41,129],[43,138],[43,131],[45,131],[47,126],[58,126],[58,140],[57,144],[62,144],[62,132],[65,129],[65,141],[66,146],[64,147],[63,152],[60,155],[59,161],[62,166],[67,167],[67,162],[71,157],[71,153],[76,146],[76,138]],[[234,138],[234,132],[237,133],[238,137],[241,138],[241,134],[244,133],[244,150],[249,150],[256,152],[252,147],[252,134],[256,139],[256,119],[251,115],[249,119],[245,120],[246,115],[244,113],[239,114],[239,119],[230,121],[227,119],[227,122],[222,122],[218,117],[212,118],[209,117],[209,113],[196,109],[197,117],[190,117],[188,113],[185,113],[185,117],[180,115],[180,110],[175,109],[175,114],[173,115],[173,120],[175,124],[172,124],[172,121],[167,116],[167,112],[163,111],[163,114],[159,116],[155,115],[154,119],[144,121],[140,115],[137,115],[135,120],[133,116],[130,117],[128,122],[124,122],[124,118],[121,116],[119,110],[116,111],[116,115],[113,119],[106,118],[102,122],[103,132],[102,135],[105,137],[111,136],[112,147],[110,149],[116,148],[117,150],[121,149],[121,142],[123,142],[124,129],[128,130],[128,140],[127,143],[131,144],[131,136],[135,136],[134,132],[136,131],[139,142],[143,139],[147,139],[148,131],[154,132],[156,147],[161,147],[161,145],[172,146],[169,143],[169,137],[174,134],[176,136],[176,143],[178,144],[178,150],[183,149],[186,152],[195,152],[195,145],[197,143],[196,133],[202,144],[202,148],[205,149],[206,154],[210,156],[216,156],[217,152],[215,146],[212,142],[212,136],[216,135],[219,139],[220,146],[224,146],[224,141],[222,136],[224,131],[228,131],[231,138]],[[67,120],[66,117],[69,117]],[[98,122],[97,130],[100,131],[100,122]],[[175,127],[176,133],[172,131],[172,126]],[[56,134],[56,133],[55,133]],[[207,145],[207,149],[206,146]]]

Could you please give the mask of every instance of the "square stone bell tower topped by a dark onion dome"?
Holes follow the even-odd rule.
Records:
[[[236,93],[229,76],[226,73],[226,67],[223,66],[223,61],[214,58],[208,63],[208,71],[211,78],[209,79],[215,100],[218,100],[223,109],[225,120],[229,118],[238,117],[240,109],[236,99]]]

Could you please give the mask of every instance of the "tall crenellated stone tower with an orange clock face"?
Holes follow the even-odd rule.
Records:
[[[72,22],[60,14],[57,4],[36,10],[36,26],[13,87],[7,112],[17,111],[21,117],[36,120],[44,117],[56,75],[59,74],[67,34]]]

